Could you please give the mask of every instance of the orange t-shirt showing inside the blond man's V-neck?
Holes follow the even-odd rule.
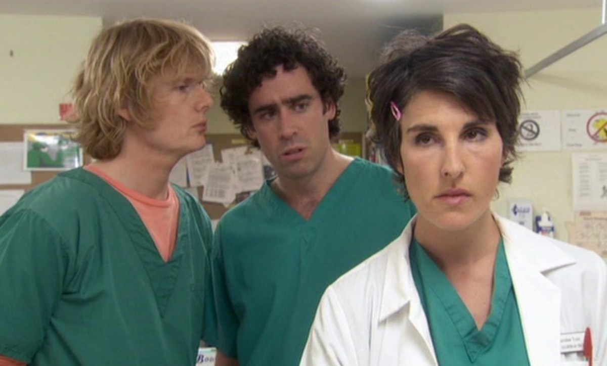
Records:
[[[168,262],[177,244],[179,225],[179,199],[172,186],[169,185],[169,197],[166,200],[155,200],[124,186],[96,166],[87,165],[85,169],[103,178],[131,202],[154,239],[160,256],[164,262]]]

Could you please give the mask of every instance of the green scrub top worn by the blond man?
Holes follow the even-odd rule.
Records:
[[[32,365],[194,365],[212,233],[197,200],[175,191],[166,263],[127,198],[84,169],[2,215],[0,354]]]

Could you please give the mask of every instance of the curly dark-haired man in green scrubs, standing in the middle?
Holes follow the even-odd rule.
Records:
[[[390,169],[331,146],[344,84],[310,32],[281,27],[255,35],[224,75],[223,109],[277,177],[215,231],[217,364],[299,364],[327,285],[412,215]]]

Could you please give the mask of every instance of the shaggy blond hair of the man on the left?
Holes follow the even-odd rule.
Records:
[[[142,18],[102,30],[72,88],[78,141],[93,158],[116,157],[127,125],[118,110],[127,108],[132,122],[150,127],[152,76],[168,69],[181,75],[190,67],[211,76],[213,64],[209,41],[183,22]]]

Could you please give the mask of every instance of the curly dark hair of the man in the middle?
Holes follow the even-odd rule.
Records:
[[[336,138],[341,113],[337,102],[344,95],[345,71],[310,30],[304,29],[263,29],[246,46],[240,47],[238,58],[223,73],[220,89],[222,109],[234,125],[254,146],[259,146],[247,133],[252,127],[249,97],[263,78],[276,76],[276,67],[280,65],[285,70],[304,67],[325,108],[335,104],[335,117],[329,120],[329,137]]]

